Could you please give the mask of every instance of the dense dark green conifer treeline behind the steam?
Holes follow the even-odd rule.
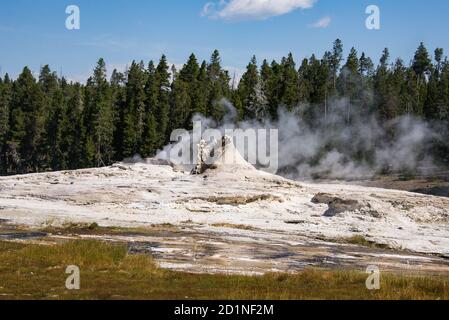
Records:
[[[238,83],[218,51],[202,63],[192,54],[181,70],[165,56],[157,65],[134,61],[110,79],[100,59],[85,85],[69,83],[48,65],[37,79],[25,67],[15,80],[0,78],[0,174],[153,156],[173,129],[191,128],[193,115],[222,120],[223,98],[236,107],[235,121],[276,119],[285,108],[313,123],[334,112],[330,101],[337,97],[348,99],[348,124],[367,114],[382,123],[405,114],[449,123],[449,62],[442,49],[432,58],[421,44],[410,63],[392,61],[385,49],[375,66],[354,48],[344,59],[336,40],[322,58],[312,55],[298,66],[292,54],[260,67],[253,57]],[[436,153],[447,160],[445,149]]]

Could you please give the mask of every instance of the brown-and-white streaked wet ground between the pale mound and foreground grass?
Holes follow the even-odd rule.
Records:
[[[449,273],[449,259],[432,255],[333,243],[285,232],[158,227],[133,232],[57,232],[25,230],[1,223],[0,240],[58,243],[96,239],[128,244],[130,253],[149,254],[163,268],[193,273],[263,274],[305,268],[383,271],[410,274]]]

